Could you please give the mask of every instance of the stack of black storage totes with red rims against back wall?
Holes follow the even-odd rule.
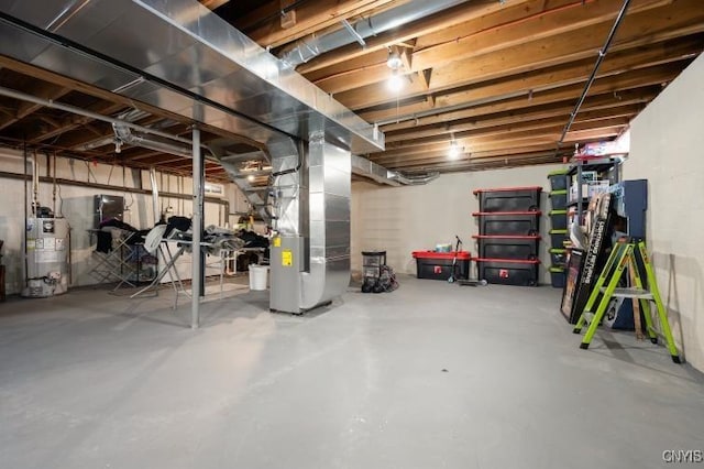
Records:
[[[476,189],[479,277],[504,285],[537,285],[541,187]]]

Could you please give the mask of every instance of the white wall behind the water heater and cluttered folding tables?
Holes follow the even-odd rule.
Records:
[[[40,175],[47,174],[46,157],[40,155]],[[31,166],[28,172],[31,173]],[[0,172],[22,174],[24,172],[23,157],[18,152],[0,150]],[[77,187],[72,185],[59,186],[57,193],[56,212],[63,214],[72,227],[72,286],[91,285],[97,282],[89,272],[96,263],[95,237],[90,237],[88,230],[94,223],[94,196],[98,194],[123,196],[129,211],[124,214],[124,221],[138,229],[148,229],[154,226],[151,194],[133,194],[122,190],[122,186],[139,188],[140,186],[151,190],[148,172],[139,170],[125,170],[124,177],[121,166],[106,164],[92,164],[78,160],[57,159],[56,174],[59,178],[79,181],[86,183],[107,184],[116,186],[114,190]],[[157,173],[160,190],[176,194],[193,194],[193,181],[188,177],[177,177]],[[31,185],[29,203],[31,204]],[[40,204],[52,207],[52,185],[40,184]],[[242,208],[243,197],[234,185],[226,186],[226,196],[230,201],[230,211]],[[61,201],[63,199],[63,203]],[[237,206],[233,205],[239,204]],[[170,208],[167,216],[193,215],[191,200],[178,198],[160,198],[160,210]],[[246,209],[246,207],[245,207]],[[224,207],[215,203],[205,205],[205,222],[208,225],[223,226],[227,222],[237,222],[229,219]],[[23,286],[23,227],[24,227],[24,183],[22,181],[0,177],[0,239],[4,240],[2,249],[2,263],[6,265],[6,291],[8,294],[19,293]],[[190,279],[190,258],[185,255],[179,265],[179,272],[185,279]]]

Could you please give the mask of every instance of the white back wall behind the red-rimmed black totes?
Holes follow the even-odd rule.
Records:
[[[540,220],[541,283],[550,283],[550,210],[547,175],[562,165],[541,165],[509,170],[441,175],[419,186],[389,187],[355,182],[352,184],[352,269],[361,270],[361,251],[386,251],[387,263],[396,272],[416,274],[413,251],[433,249],[452,242],[458,234],[464,249],[476,255],[472,234],[479,226],[472,217],[479,211],[477,188],[540,186],[543,188]],[[556,305],[558,308],[558,305]],[[556,309],[557,310],[557,309]]]

